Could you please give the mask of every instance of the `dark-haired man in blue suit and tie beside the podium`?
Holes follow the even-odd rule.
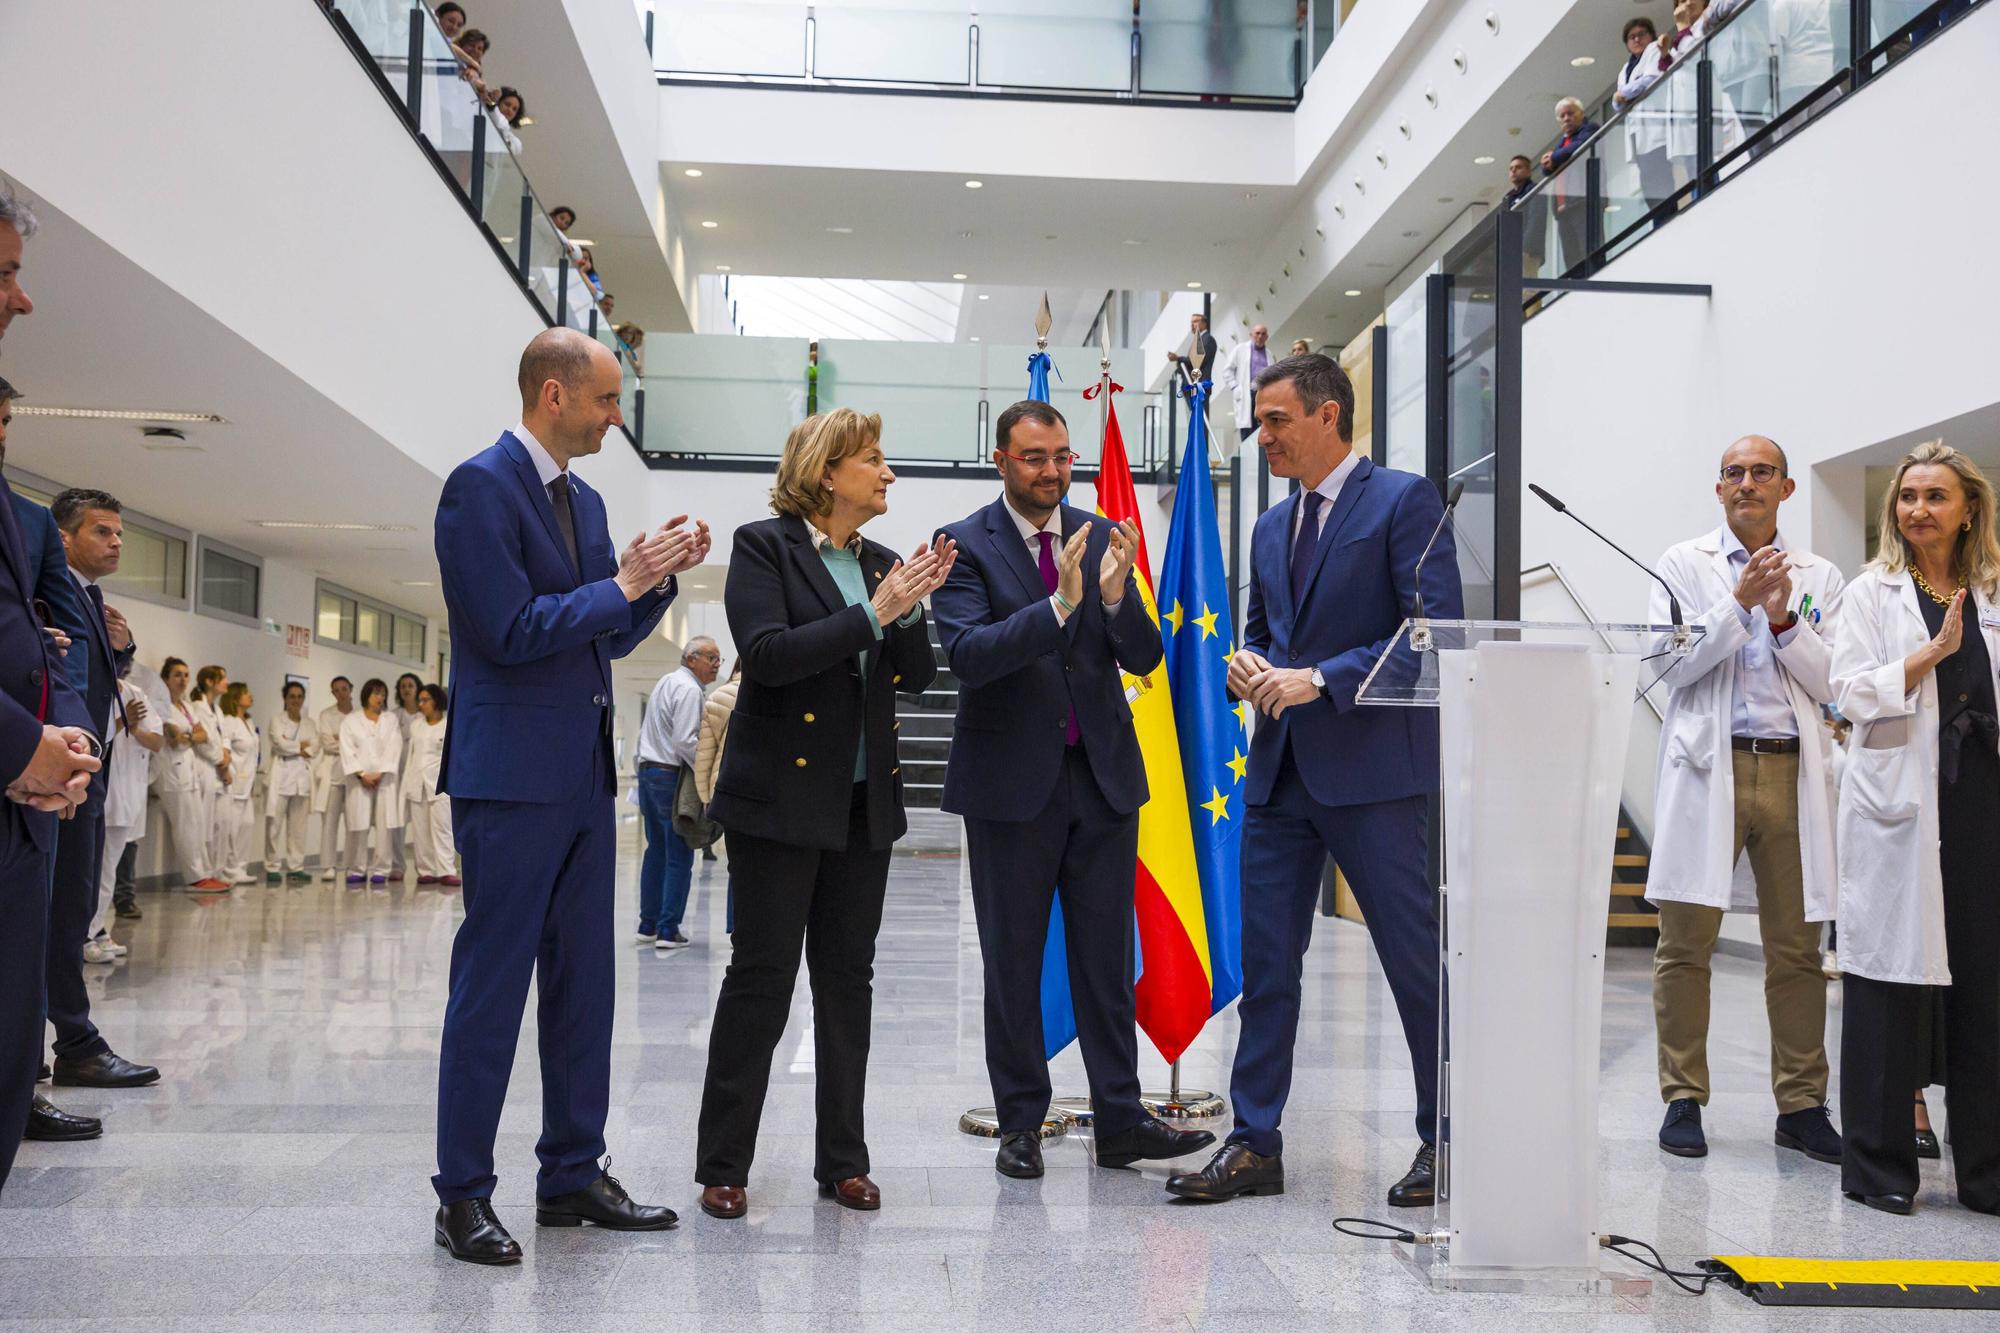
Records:
[[[1444,502],[1422,476],[1354,452],[1354,384],[1328,356],[1260,374],[1256,416],[1270,470],[1300,490],[1256,522],[1244,646],[1230,658],[1230,693],[1262,715],[1244,795],[1236,1127],[1206,1169],[1166,1189],[1184,1199],[1284,1193],[1278,1123],[1292,1091],[1300,961],[1330,855],[1368,921],[1410,1045],[1424,1145],[1388,1201],[1420,1207],[1434,1193],[1438,1119],[1438,915],[1426,873],[1438,715],[1364,707],[1354,695],[1410,614],[1416,562]],[[1450,534],[1424,560],[1422,592],[1432,616],[1462,614]]]

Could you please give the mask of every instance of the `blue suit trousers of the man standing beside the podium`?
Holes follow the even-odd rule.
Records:
[[[1244,995],[1238,1005],[1230,1141],[1252,1153],[1284,1149],[1278,1131],[1292,1093],[1300,977],[1326,857],[1348,877],[1388,975],[1416,1075],[1416,1133],[1438,1125],[1438,911],[1426,873],[1426,801],[1320,805],[1286,749],[1270,805],[1252,805],[1242,843]]]

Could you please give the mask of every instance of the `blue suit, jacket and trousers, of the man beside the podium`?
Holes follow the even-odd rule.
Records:
[[[1444,504],[1422,476],[1360,458],[1326,512],[1304,596],[1292,596],[1296,492],[1250,538],[1244,648],[1272,666],[1318,666],[1320,699],[1262,719],[1250,739],[1242,841],[1244,993],[1230,1139],[1282,1149],[1300,973],[1330,855],[1360,903],[1416,1073],[1416,1129],[1438,1105],[1438,917],[1426,873],[1426,803],[1438,787],[1438,717],[1354,701],[1416,594],[1416,560]],[[1464,612],[1450,532],[1424,560],[1424,610]],[[1408,648],[1400,662],[1410,671]]]

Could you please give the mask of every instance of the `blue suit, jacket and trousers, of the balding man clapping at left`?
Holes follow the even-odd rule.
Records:
[[[458,464],[436,548],[452,626],[438,787],[466,865],[438,1053],[438,1199],[490,1197],[528,979],[542,1047],[536,1193],[600,1175],[612,1051],[612,660],[674,598],[628,602],[604,500],[570,474],[582,568],[512,432]]]

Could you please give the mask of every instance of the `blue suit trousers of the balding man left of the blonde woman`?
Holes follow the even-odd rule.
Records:
[[[610,791],[602,781],[594,787],[550,805],[452,799],[466,919],[452,941],[438,1051],[438,1173],[430,1183],[442,1203],[494,1191],[494,1133],[530,977],[542,1055],[536,1193],[564,1195],[602,1175],[618,831]]]

